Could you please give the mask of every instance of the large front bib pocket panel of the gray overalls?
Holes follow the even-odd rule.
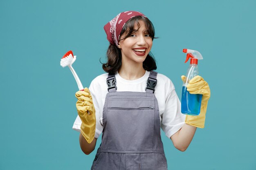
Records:
[[[109,150],[152,150],[155,115],[153,100],[111,99],[107,108],[108,121],[115,122],[108,126]]]

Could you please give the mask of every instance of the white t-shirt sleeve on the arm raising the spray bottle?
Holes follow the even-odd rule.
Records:
[[[185,115],[181,113],[180,99],[175,92],[172,82],[170,82],[169,91],[166,95],[164,113],[161,117],[161,128],[168,138],[180,130],[185,123]]]

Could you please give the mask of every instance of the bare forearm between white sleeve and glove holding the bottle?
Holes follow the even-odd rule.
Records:
[[[195,126],[184,124],[182,128],[171,136],[173,145],[180,151],[185,151],[195,135]]]

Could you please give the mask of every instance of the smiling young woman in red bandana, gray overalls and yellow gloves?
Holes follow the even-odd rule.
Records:
[[[96,77],[89,89],[76,92],[73,129],[81,131],[81,149],[90,154],[102,132],[92,170],[167,170],[160,127],[175,148],[186,150],[196,127],[204,127],[209,86],[200,76],[190,80],[188,91],[203,94],[201,112],[183,115],[171,80],[153,71],[155,30],[150,20],[126,11],[104,29],[110,42],[108,62],[103,64],[107,73]]]

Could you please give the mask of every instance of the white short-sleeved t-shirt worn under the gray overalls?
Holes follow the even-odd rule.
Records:
[[[146,82],[149,73],[149,71],[146,71],[142,77],[136,80],[126,80],[123,79],[117,72],[115,74],[117,91],[146,92]],[[92,80],[89,87],[96,111],[96,130],[94,137],[97,139],[103,131],[102,113],[105,97],[108,93],[108,86],[106,83],[107,77],[108,73],[99,75]],[[157,85],[155,87],[154,94],[157,98],[159,107],[160,126],[165,132],[165,135],[170,138],[173,134],[180,130],[180,128],[182,128],[185,122],[185,115],[181,113],[180,100],[177,97],[171,80],[165,75],[159,73],[157,74]],[[81,123],[80,117],[77,116],[72,128],[80,132]]]

